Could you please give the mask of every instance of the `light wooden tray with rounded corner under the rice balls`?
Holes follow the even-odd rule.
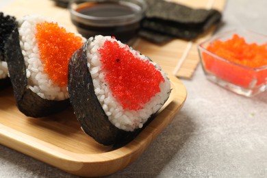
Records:
[[[97,177],[116,173],[131,164],[170,124],[186,101],[186,88],[169,76],[170,98],[155,119],[123,147],[106,147],[81,131],[68,108],[47,118],[19,112],[12,88],[0,92],[0,144],[25,153],[74,175]]]

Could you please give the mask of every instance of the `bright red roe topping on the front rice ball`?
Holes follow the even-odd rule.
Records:
[[[99,49],[105,81],[123,109],[140,110],[160,92],[162,74],[148,60],[136,58],[129,47],[106,40]]]

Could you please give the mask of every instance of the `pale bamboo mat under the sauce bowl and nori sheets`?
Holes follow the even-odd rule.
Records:
[[[226,0],[168,1],[175,1],[192,8],[215,8],[223,11]],[[25,16],[26,14],[42,14],[48,18],[53,18],[62,25],[66,25],[68,29],[76,31],[75,26],[71,23],[68,10],[55,6],[54,1],[51,0],[14,0],[13,3],[6,5],[0,11],[16,17]],[[177,39],[164,45],[157,45],[146,40],[138,39],[136,44],[134,44],[134,49],[141,51],[141,53],[147,55],[151,60],[160,64],[166,73],[190,79],[194,74],[196,66],[199,64],[197,44],[211,36],[213,31],[213,29],[207,31],[206,34],[203,34],[199,39],[192,42]]]

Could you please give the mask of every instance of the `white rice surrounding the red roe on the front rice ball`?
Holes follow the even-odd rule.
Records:
[[[123,107],[112,96],[110,92],[109,84],[104,79],[104,72],[101,71],[101,57],[98,51],[105,42],[105,40],[116,41],[110,36],[96,36],[95,38],[89,38],[92,42],[88,46],[87,59],[88,69],[92,75],[92,81],[94,84],[94,92],[101,103],[105,114],[108,116],[110,122],[125,131],[133,131],[134,129],[142,128],[147,119],[160,110],[163,103],[168,99],[170,94],[170,81],[166,74],[160,70],[164,77],[164,82],[160,83],[160,92],[158,92],[151,100],[143,105],[141,110],[123,110]],[[125,44],[117,41],[120,47],[125,47]],[[129,51],[140,60],[149,60],[145,55],[137,53],[133,49],[129,48]],[[160,69],[155,62],[151,62],[155,68]]]

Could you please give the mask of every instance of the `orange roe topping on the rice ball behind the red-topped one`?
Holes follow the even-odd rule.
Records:
[[[66,32],[58,23],[36,24],[36,40],[44,72],[60,86],[68,80],[68,61],[83,44],[82,38]]]

